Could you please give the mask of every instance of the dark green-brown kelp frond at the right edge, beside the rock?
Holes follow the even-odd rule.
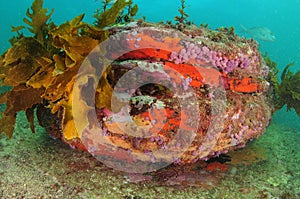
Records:
[[[282,72],[281,84],[276,93],[279,97],[276,107],[280,109],[286,104],[287,110],[294,108],[300,116],[300,71],[292,73],[289,68],[293,65],[288,64]]]

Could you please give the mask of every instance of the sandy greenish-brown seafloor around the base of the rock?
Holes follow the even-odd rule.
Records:
[[[195,167],[162,182],[109,169],[39,126],[32,134],[24,113],[14,136],[0,140],[0,198],[300,198],[300,132],[280,124],[229,154],[226,171]]]

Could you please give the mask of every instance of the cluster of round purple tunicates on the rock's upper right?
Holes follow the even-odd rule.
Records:
[[[235,59],[228,59],[222,53],[210,50],[207,46],[198,46],[191,42],[185,42],[185,47],[179,53],[172,52],[170,61],[175,64],[187,63],[195,59],[199,63],[211,63],[226,73],[232,72],[235,68],[248,68],[250,59],[244,54],[238,54]]]

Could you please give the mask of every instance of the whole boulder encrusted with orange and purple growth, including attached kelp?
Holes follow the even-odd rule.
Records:
[[[105,2],[94,25],[84,15],[55,25],[34,1],[24,20],[33,36],[14,27],[0,58],[1,84],[11,88],[0,96],[1,132],[12,136],[19,111],[34,132],[36,113],[70,146],[149,172],[244,147],[284,104],[299,114],[299,72],[287,68],[279,84],[256,41],[188,22],[184,1],[177,24],[134,20],[132,1]]]

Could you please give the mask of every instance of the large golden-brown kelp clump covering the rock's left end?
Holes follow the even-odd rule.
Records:
[[[106,14],[101,14],[101,27],[116,20],[117,16],[109,13],[120,13],[128,5],[120,0],[113,4]],[[82,22],[83,14],[56,27],[48,23],[53,10],[47,13],[43,0],[35,0],[31,11],[26,12],[28,18],[24,19],[34,35],[25,37],[20,33],[25,26],[13,27],[12,31],[18,36],[12,39],[13,46],[0,59],[0,83],[12,87],[0,96],[0,103],[6,104],[0,119],[0,133],[4,132],[8,137],[13,134],[19,111],[26,112],[34,132],[34,109],[45,100],[52,113],[60,110],[65,137],[78,137],[70,98],[74,78],[84,58],[108,34],[106,30]]]

